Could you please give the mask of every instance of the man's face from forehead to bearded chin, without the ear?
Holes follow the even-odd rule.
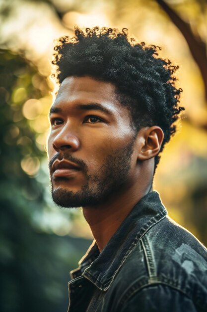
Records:
[[[111,83],[67,77],[51,108],[48,139],[53,200],[93,206],[135,178],[135,133]]]

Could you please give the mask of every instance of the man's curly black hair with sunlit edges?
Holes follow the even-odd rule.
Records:
[[[159,126],[164,132],[160,149],[176,132],[182,89],[176,89],[178,66],[158,57],[160,47],[146,46],[128,35],[128,29],[75,27],[75,36],[61,37],[55,46],[53,77],[61,84],[68,76],[91,76],[111,82],[119,102],[131,112],[132,128]],[[160,156],[155,156],[154,172]]]

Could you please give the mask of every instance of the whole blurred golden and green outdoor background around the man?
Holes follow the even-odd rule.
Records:
[[[91,242],[81,209],[51,200],[45,145],[54,39],[127,27],[180,65],[186,108],[154,181],[169,215],[207,245],[207,1],[0,0],[0,311],[63,312]]]

